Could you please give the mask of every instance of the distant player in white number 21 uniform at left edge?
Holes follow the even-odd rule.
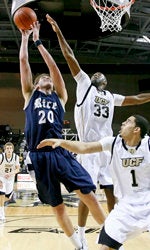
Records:
[[[13,195],[15,175],[20,170],[19,155],[14,152],[12,142],[4,145],[4,152],[0,154],[0,221],[5,222],[5,201]]]

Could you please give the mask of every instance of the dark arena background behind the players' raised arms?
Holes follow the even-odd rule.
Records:
[[[23,97],[20,89],[19,48],[20,32],[13,23],[13,14],[20,6],[35,10],[41,23],[40,37],[56,60],[69,94],[65,119],[74,127],[76,83],[60,51],[56,34],[45,20],[49,13],[60,25],[81,67],[90,76],[101,71],[108,79],[108,90],[123,95],[134,95],[150,90],[150,1],[136,0],[130,18],[123,17],[121,32],[101,32],[100,18],[88,0],[0,1],[0,124],[13,129],[24,128]],[[12,8],[13,5],[13,8]],[[139,40],[140,39],[140,40]],[[33,75],[47,72],[32,38],[29,55]],[[145,115],[149,120],[150,104],[115,109],[113,128],[132,113]]]

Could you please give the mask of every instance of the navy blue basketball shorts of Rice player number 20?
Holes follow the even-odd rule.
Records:
[[[67,150],[58,147],[49,152],[30,152],[35,170],[38,195],[45,204],[55,207],[63,202],[61,183],[68,192],[88,194],[96,189],[88,172]]]

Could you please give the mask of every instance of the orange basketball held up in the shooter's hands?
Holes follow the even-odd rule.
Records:
[[[15,12],[13,20],[18,29],[29,30],[30,25],[37,21],[37,16],[31,8],[21,7]]]

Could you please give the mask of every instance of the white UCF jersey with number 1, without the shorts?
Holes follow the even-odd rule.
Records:
[[[100,140],[103,150],[112,152],[110,164],[117,199],[129,204],[150,202],[150,138],[137,147],[127,147],[120,136]]]

